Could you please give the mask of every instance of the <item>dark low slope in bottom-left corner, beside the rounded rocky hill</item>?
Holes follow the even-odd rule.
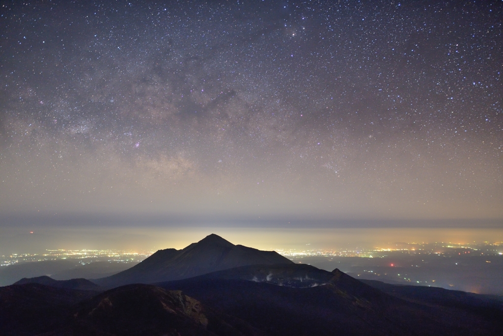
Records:
[[[53,330],[72,305],[96,294],[33,283],[0,287],[0,334],[35,335]]]

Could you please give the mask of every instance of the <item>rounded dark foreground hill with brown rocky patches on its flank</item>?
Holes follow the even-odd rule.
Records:
[[[78,304],[47,335],[263,335],[242,320],[205,308],[181,291],[127,285]]]

